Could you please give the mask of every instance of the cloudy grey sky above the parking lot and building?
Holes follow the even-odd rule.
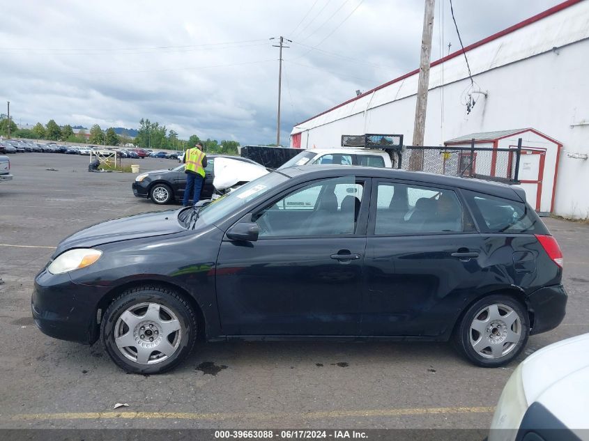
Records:
[[[436,2],[432,59],[459,49],[450,0]],[[464,45],[558,0],[453,0]],[[3,4],[0,102],[17,123],[137,127],[187,139],[276,139],[293,125],[418,67],[422,0],[20,0]],[[443,20],[442,20],[443,16]],[[443,29],[443,40],[441,40]],[[441,41],[443,44],[441,45]],[[5,112],[4,110],[1,113]]]

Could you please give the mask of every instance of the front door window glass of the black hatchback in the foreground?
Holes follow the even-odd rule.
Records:
[[[356,183],[353,176],[319,180],[298,188],[254,215],[259,237],[353,234],[362,189],[363,184]]]

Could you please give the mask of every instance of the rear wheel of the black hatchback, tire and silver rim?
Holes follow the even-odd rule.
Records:
[[[526,307],[507,295],[489,295],[466,310],[453,340],[459,353],[473,364],[498,367],[521,353],[529,334]]]

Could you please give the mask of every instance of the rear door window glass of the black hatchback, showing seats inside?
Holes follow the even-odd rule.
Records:
[[[456,193],[401,183],[378,183],[375,234],[458,233],[472,230]],[[466,228],[464,225],[466,224]]]

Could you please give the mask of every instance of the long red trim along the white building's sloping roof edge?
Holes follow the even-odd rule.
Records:
[[[523,20],[523,22],[519,22],[517,24],[514,24],[513,26],[508,27],[507,29],[503,29],[503,31],[499,31],[497,33],[494,33],[491,36],[488,36],[487,38],[483,38],[482,40],[479,40],[477,42],[474,42],[472,45],[468,45],[464,48],[464,52],[468,52],[472,49],[475,49],[479,46],[482,46],[484,44],[487,44],[488,42],[491,42],[493,40],[496,40],[497,38],[501,38],[503,36],[506,36],[508,33],[512,33],[514,31],[517,31],[518,29],[521,29],[523,27],[528,26],[528,24],[532,24],[535,22],[538,22],[540,20],[542,20],[543,18],[549,17],[550,15],[556,14],[558,12],[560,12],[563,9],[568,8],[569,6],[572,6],[576,3],[580,3],[583,0],[567,0],[567,1],[563,1],[563,3],[559,3],[556,6],[553,6],[552,8],[546,9],[544,12],[539,13],[537,15],[534,15],[533,17],[530,17],[526,20]],[[444,63],[445,61],[451,60],[457,56],[461,56],[462,55],[462,50],[458,50],[456,52],[452,52],[452,54],[447,55],[439,60],[433,61],[432,63],[430,63],[430,67],[434,67],[435,65]],[[371,90],[362,93],[361,95],[358,95],[354,98],[351,98],[350,100],[347,100],[345,102],[342,102],[342,104],[339,104],[335,107],[332,107],[331,109],[328,109],[326,111],[322,111],[321,114],[316,114],[315,116],[312,116],[311,118],[307,118],[305,119],[305,121],[301,121],[300,123],[296,124],[296,125],[301,125],[306,123],[307,121],[311,121],[314,118],[317,118],[321,115],[325,115],[328,114],[330,111],[333,111],[339,107],[345,106],[346,104],[349,104],[350,102],[353,102],[355,100],[359,100],[360,98],[365,97],[366,95],[369,95],[370,93],[376,92],[378,90],[380,90],[381,88],[385,88],[387,86],[390,86],[391,84],[395,84],[403,79],[406,79],[407,77],[411,77],[412,75],[418,74],[419,73],[419,69],[415,69],[412,70],[411,72],[406,73],[405,75],[401,75],[401,77],[392,79],[390,82],[386,82],[385,84],[381,84],[380,86],[376,86],[375,88],[372,88]]]

